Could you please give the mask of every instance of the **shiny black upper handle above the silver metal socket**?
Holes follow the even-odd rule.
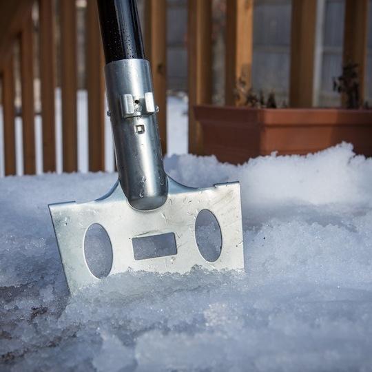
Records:
[[[106,63],[144,59],[136,0],[97,0]]]

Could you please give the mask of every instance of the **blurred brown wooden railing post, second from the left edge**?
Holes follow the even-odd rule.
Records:
[[[21,87],[22,87],[22,133],[23,173],[35,174],[35,129],[34,129],[34,25],[31,14],[21,32]]]

